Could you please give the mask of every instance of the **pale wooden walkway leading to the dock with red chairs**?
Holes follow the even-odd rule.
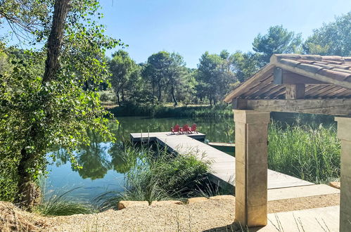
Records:
[[[181,155],[196,155],[199,160],[211,162],[211,180],[220,186],[235,186],[235,157],[212,148],[196,139],[204,139],[205,134],[170,134],[170,132],[132,133],[132,141],[157,141],[170,152]],[[196,138],[196,139],[195,139]],[[314,183],[303,181],[268,169],[268,189],[309,186]]]

